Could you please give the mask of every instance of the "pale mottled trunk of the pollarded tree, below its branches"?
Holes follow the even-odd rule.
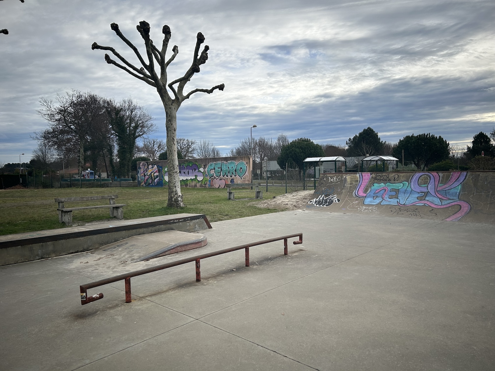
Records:
[[[167,104],[163,104],[163,106],[165,108],[165,128],[167,130],[167,207],[184,207],[179,181],[179,161],[177,160],[177,110]]]

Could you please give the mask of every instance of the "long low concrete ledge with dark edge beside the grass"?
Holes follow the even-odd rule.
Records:
[[[124,238],[211,228],[204,214],[175,214],[0,236],[0,266],[88,251]]]

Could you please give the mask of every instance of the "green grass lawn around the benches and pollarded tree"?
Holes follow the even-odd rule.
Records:
[[[263,187],[263,197],[285,193],[285,187]],[[243,189],[244,190],[244,189]],[[90,196],[118,194],[117,203],[123,203],[124,219],[147,218],[178,213],[206,214],[210,222],[244,218],[252,215],[274,213],[280,210],[263,209],[249,205],[254,200],[228,201],[226,189],[182,188],[185,208],[171,209],[165,207],[168,188],[129,187],[129,188],[47,188],[47,189],[9,189],[0,190],[0,235],[20,232],[41,231],[62,228],[58,223],[57,203],[55,197]],[[236,194],[236,197],[254,197],[250,193]],[[108,200],[66,202],[65,207],[103,205]],[[74,223],[108,219],[108,209],[90,209],[74,211]]]

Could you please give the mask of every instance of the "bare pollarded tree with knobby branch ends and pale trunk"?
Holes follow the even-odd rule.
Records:
[[[184,87],[191,80],[193,75],[199,72],[199,66],[206,63],[208,59],[209,46],[205,45],[201,54],[199,54],[199,47],[204,43],[204,36],[200,32],[196,37],[196,47],[194,49],[193,63],[187,72],[181,78],[172,81],[167,85],[167,67],[174,60],[179,48],[174,45],[172,48],[173,54],[167,59],[165,59],[165,54],[168,47],[168,42],[170,41],[171,32],[170,27],[167,25],[163,26],[162,34],[164,35],[161,49],[154,46],[153,41],[149,38],[149,23],[146,21],[139,22],[136,26],[137,30],[141,34],[145,42],[146,54],[148,63],[141,56],[138,48],[134,46],[119,30],[119,26],[116,23],[110,25],[111,29],[117,34],[117,36],[129,46],[139,61],[142,67],[137,68],[133,64],[129,63],[124,59],[113,47],[111,46],[100,46],[97,43],[93,43],[92,49],[109,50],[115,55],[122,63],[115,62],[110,58],[108,54],[105,54],[105,61],[108,64],[113,64],[135,78],[144,81],[148,85],[151,85],[156,89],[158,95],[163,103],[163,108],[165,109],[165,128],[167,131],[167,157],[168,157],[168,202],[169,207],[183,207],[182,202],[181,187],[179,183],[179,162],[177,160],[177,110],[179,109],[181,103],[188,99],[192,94],[202,92],[202,93],[213,93],[215,89],[223,90],[224,84],[214,86],[211,89],[195,89],[184,95]],[[160,73],[157,74],[155,71],[154,63],[160,66]],[[127,66],[127,67],[126,67]],[[177,85],[177,89],[174,87]],[[173,97],[167,91],[167,86],[173,93]]]

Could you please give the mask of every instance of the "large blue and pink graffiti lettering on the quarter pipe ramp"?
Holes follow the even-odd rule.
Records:
[[[460,210],[446,218],[448,221],[457,221],[471,210],[471,205],[459,200],[461,184],[466,179],[466,172],[452,172],[450,179],[440,184],[440,175],[436,172],[416,173],[409,182],[401,183],[373,183],[370,189],[364,189],[370,181],[370,173],[359,173],[359,183],[354,196],[364,198],[365,205],[398,205],[409,207],[413,205],[428,205],[435,209],[444,209],[450,206],[460,206]],[[420,185],[420,178],[426,178],[426,184]],[[393,181],[393,180],[392,180]],[[424,183],[424,182],[422,182]]]

